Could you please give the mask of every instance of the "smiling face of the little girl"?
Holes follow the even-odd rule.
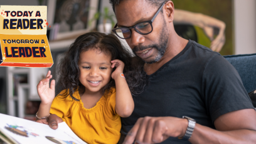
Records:
[[[79,80],[85,86],[85,93],[99,92],[109,83],[112,73],[111,54],[98,49],[90,49],[80,53],[78,66]]]

